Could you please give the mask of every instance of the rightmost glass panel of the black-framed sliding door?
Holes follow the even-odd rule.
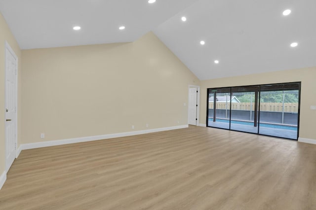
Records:
[[[298,90],[260,92],[259,134],[297,139]]]

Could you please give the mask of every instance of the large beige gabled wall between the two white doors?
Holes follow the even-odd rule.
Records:
[[[22,143],[187,125],[188,85],[199,85],[153,33],[23,50],[22,66]]]

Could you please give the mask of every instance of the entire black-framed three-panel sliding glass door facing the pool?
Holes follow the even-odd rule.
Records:
[[[207,126],[297,140],[300,85],[209,88]]]

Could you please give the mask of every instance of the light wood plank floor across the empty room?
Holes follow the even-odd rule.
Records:
[[[1,210],[315,210],[316,145],[188,129],[24,150]]]

